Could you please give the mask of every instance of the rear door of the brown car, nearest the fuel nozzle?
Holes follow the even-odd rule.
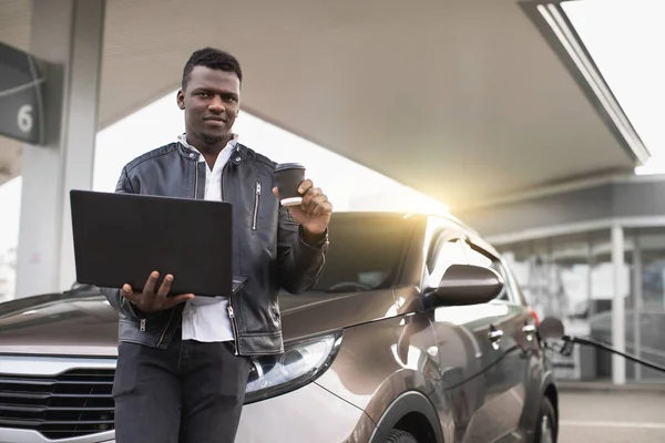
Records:
[[[529,380],[529,356],[535,332],[532,317],[513,293],[499,258],[468,240],[469,262],[503,277],[503,291],[491,302],[478,306],[479,321],[487,331],[483,354],[484,400],[469,426],[468,441],[520,442],[520,419]],[[480,312],[482,311],[482,315]],[[467,440],[466,440],[467,441]]]

